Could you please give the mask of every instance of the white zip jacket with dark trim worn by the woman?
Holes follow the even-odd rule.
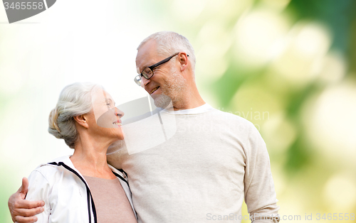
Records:
[[[120,180],[133,212],[127,176],[109,165]],[[123,171],[122,171],[123,172]],[[28,177],[26,200],[43,200],[44,211],[37,214],[37,222],[96,223],[95,205],[88,183],[75,169],[69,156],[57,158],[51,163],[39,165]]]

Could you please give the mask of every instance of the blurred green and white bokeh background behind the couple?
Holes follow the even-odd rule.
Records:
[[[85,2],[88,9],[98,4]],[[85,49],[93,48],[88,52],[106,65],[110,59],[98,53],[103,50],[103,42],[112,48],[120,45],[123,49],[112,55],[123,55],[123,59],[109,61],[104,74],[88,69],[84,76],[68,70],[70,75],[64,75],[66,70],[60,68],[68,65],[63,58],[73,52],[87,54],[78,48],[64,53],[59,48],[51,49],[53,55],[61,55],[59,65],[51,63],[61,72],[38,68],[48,55],[43,53],[47,52],[44,46],[31,42],[31,37],[36,32],[56,32],[51,30],[50,13],[66,14],[64,3],[58,1],[45,13],[28,18],[28,23],[6,24],[4,11],[0,11],[4,21],[0,23],[0,222],[11,222],[7,200],[19,187],[21,176],[31,173],[39,163],[70,152],[63,142],[46,133],[46,117],[59,91],[71,82],[85,80],[114,89],[114,98],[134,99],[116,92],[114,85],[125,89],[130,80],[134,91],[131,79],[135,75],[136,46],[150,33],[164,30],[181,33],[194,46],[197,85],[206,102],[243,116],[260,131],[270,154],[281,215],[300,215],[301,220],[288,221],[302,222],[305,214],[313,214],[313,221],[308,222],[319,222],[318,213],[356,213],[356,1],[103,3],[100,9],[110,15],[106,20],[100,20],[105,14],[100,9],[96,11],[98,18],[92,19],[94,11],[77,8],[76,17],[72,16],[65,26],[79,34],[110,21],[110,27],[100,30],[102,39],[85,36],[90,42]],[[56,13],[56,7],[61,11]],[[75,23],[76,19],[88,23]],[[58,23],[61,21],[56,26]],[[115,27],[118,38],[108,38]],[[132,43],[125,42],[128,40]],[[79,38],[73,41],[81,44]],[[25,44],[26,52],[16,48],[20,43]],[[110,47],[105,49],[110,51]],[[13,63],[16,65],[8,66]],[[80,71],[80,67],[90,67],[90,62],[70,66]],[[16,67],[16,72],[11,72],[11,67]],[[117,71],[110,69],[130,78],[117,76]],[[120,81],[112,84],[112,80]],[[145,95],[135,95],[141,94]],[[14,117],[20,121],[14,121]],[[247,214],[246,206],[243,214]]]

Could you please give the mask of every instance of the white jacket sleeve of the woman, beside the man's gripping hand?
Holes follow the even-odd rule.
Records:
[[[28,192],[26,200],[43,200],[44,211],[36,214],[38,223],[48,223],[51,207],[48,197],[51,195],[51,185],[45,176],[38,170],[33,170],[28,176]]]

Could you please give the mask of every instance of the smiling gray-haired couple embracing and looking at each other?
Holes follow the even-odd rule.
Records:
[[[174,117],[174,134],[142,151],[121,146],[107,156],[124,139],[124,113],[103,87],[68,85],[48,131],[74,148],[73,156],[23,178],[9,199],[13,221],[241,222],[245,200],[252,222],[278,222],[266,145],[251,122],[201,98],[187,38],[152,34],[137,48],[136,66],[135,82],[162,108],[159,120]],[[146,127],[137,129],[137,141],[152,134]]]

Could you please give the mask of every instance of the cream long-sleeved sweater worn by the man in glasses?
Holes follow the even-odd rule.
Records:
[[[155,145],[162,129],[167,141],[108,155],[128,174],[138,222],[241,222],[243,200],[251,217],[266,218],[254,222],[276,222],[268,219],[279,209],[268,152],[251,122],[208,104],[159,114],[163,128],[150,129],[157,114],[137,121],[136,139],[127,137],[126,144]]]

